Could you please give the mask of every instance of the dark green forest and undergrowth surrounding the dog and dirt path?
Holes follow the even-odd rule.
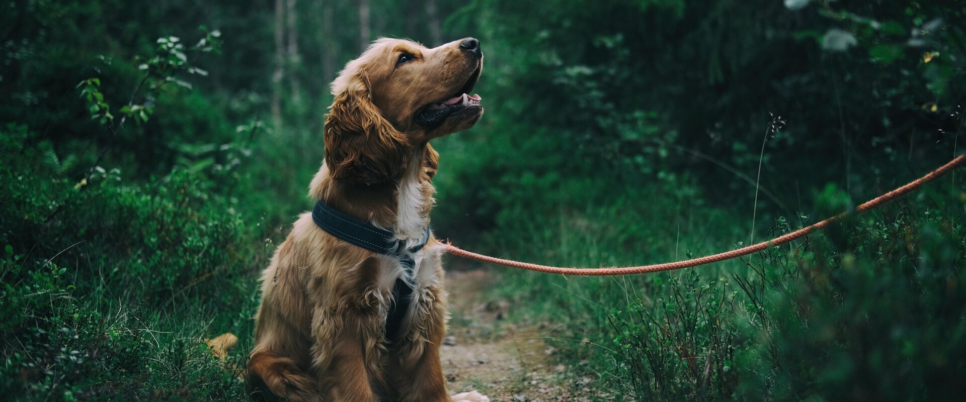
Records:
[[[2,8],[8,400],[246,400],[198,339],[240,335],[244,365],[257,273],[312,202],[328,83],[377,37],[481,40],[487,111],[434,143],[433,227],[493,255],[721,252],[963,148],[961,0]],[[618,279],[500,269],[485,291],[554,338],[559,387],[602,400],[952,400],[963,175],[752,258]]]

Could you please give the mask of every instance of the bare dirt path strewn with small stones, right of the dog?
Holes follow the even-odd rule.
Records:
[[[512,306],[486,295],[495,281],[485,269],[446,274],[452,318],[440,360],[449,389],[477,389],[494,402],[610,399],[592,389],[596,378],[575,378],[571,367],[557,362],[566,359],[557,359],[541,337],[546,323],[509,322]]]

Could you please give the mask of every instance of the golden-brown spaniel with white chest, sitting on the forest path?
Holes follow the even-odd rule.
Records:
[[[267,400],[451,401],[442,246],[429,230],[434,138],[483,115],[479,40],[380,39],[332,82],[325,160],[264,271],[252,395]],[[468,396],[469,395],[469,396]],[[475,391],[459,400],[486,401]]]

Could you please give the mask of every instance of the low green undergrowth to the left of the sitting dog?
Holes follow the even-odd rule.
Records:
[[[18,157],[0,168],[0,334],[16,335],[4,336],[0,387],[17,400],[241,398],[200,343],[250,331],[250,264],[264,259],[239,213],[211,205],[209,181],[179,170],[147,185],[99,171],[75,188],[41,157],[48,145],[23,147],[33,135],[22,126],[2,137]]]

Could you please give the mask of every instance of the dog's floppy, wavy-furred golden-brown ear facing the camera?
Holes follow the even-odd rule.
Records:
[[[332,90],[335,98],[326,116],[325,134],[326,164],[332,177],[378,184],[402,174],[408,141],[372,103],[365,78],[357,69],[343,71]]]

